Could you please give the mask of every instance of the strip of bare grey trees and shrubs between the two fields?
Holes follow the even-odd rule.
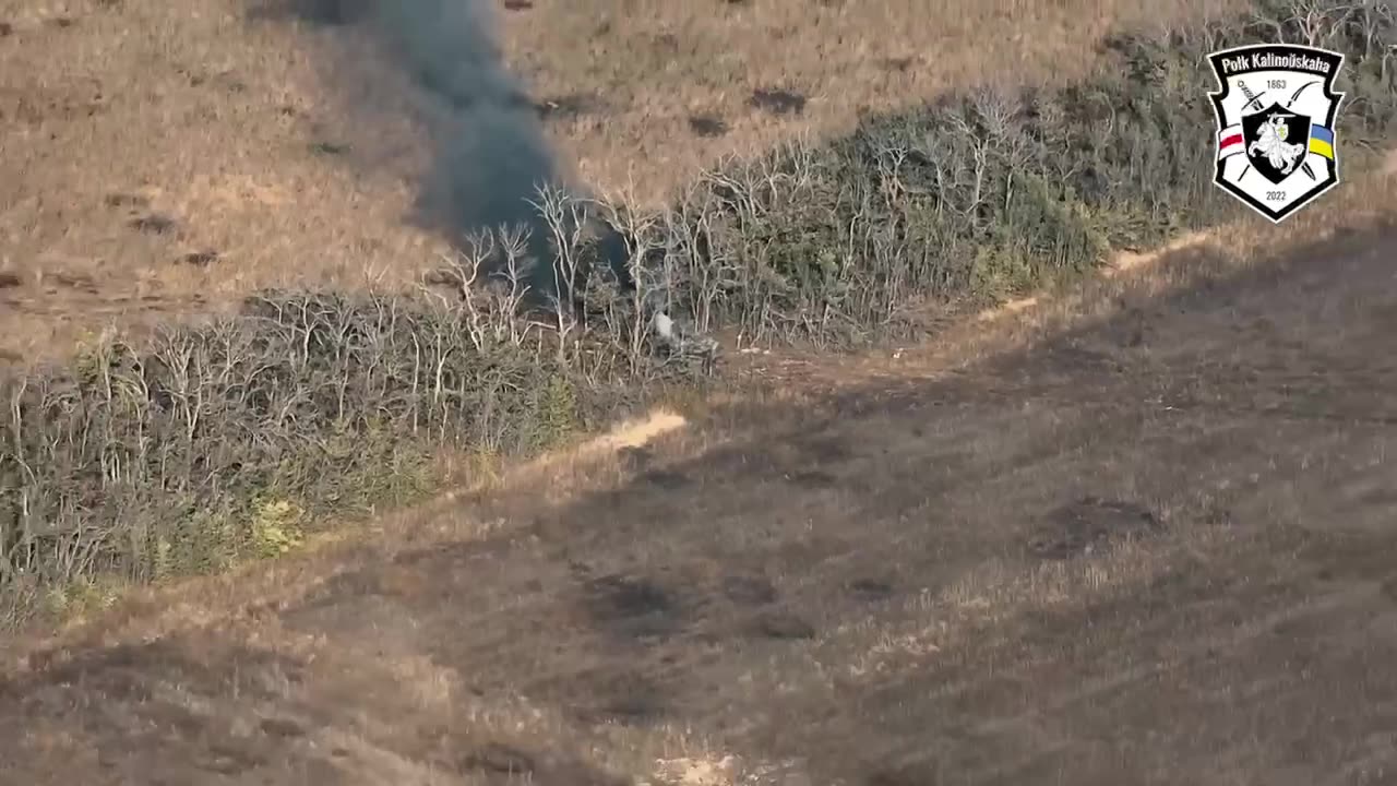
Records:
[[[536,222],[467,238],[415,294],[263,294],[7,379],[7,611],[279,552],[429,490],[443,448],[556,445],[710,376],[692,351],[710,334],[847,348],[1236,218],[1210,182],[1204,55],[1277,38],[1348,55],[1344,164],[1376,155],[1397,122],[1390,7],[1260,0],[1113,35],[1066,87],[974,90],[728,159],[664,208],[543,192]]]

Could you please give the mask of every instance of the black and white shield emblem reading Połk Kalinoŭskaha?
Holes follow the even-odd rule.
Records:
[[[1338,185],[1334,80],[1344,56],[1263,43],[1208,56],[1218,80],[1213,182],[1273,222]]]

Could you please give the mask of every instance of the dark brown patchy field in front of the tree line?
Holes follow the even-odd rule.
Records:
[[[155,596],[13,671],[0,782],[1394,783],[1394,255]]]

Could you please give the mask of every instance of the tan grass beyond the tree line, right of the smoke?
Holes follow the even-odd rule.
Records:
[[[1084,73],[1095,42],[1126,24],[1220,14],[1218,0],[876,0],[673,3],[539,0],[504,15],[511,64],[539,95],[598,97],[609,109],[553,131],[590,183],[658,204],[725,155],[792,134],[852,127],[861,112],[975,85],[1056,83]],[[799,113],[752,106],[753,91],[806,99]],[[697,137],[694,116],[722,120]]]

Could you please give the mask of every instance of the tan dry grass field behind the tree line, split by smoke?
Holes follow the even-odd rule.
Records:
[[[414,221],[439,108],[360,32],[277,1],[0,1],[0,358],[264,287],[407,285],[450,252]],[[1067,78],[1112,24],[1231,6],[531,0],[482,36],[562,169],[657,203],[863,108]]]

